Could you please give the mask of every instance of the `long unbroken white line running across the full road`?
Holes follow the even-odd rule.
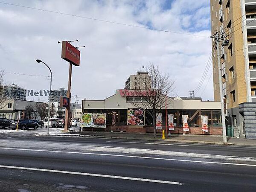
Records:
[[[39,149],[4,148],[4,147],[0,147],[0,149],[7,149],[7,150],[10,150],[10,149],[11,149],[11,150],[20,150],[20,151],[52,152],[52,153],[67,153],[67,154],[89,154],[89,155],[99,155],[99,156],[130,157],[130,158],[140,158],[140,159],[181,161],[181,162],[190,162],[190,163],[209,163],[209,164],[222,164],[222,165],[252,166],[252,167],[256,167],[256,165],[253,165],[253,164],[244,164],[244,163],[223,163],[223,162],[212,162],[212,161],[169,159],[169,158],[160,158],[160,157],[143,157],[143,156],[133,156],[133,155],[101,154],[101,153],[84,153],[84,152],[75,152],[75,151],[52,151],[52,150],[41,150],[41,149],[39,150]]]

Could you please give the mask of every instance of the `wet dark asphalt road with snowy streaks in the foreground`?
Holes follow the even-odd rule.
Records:
[[[255,147],[31,133],[0,135],[1,192],[256,191]]]

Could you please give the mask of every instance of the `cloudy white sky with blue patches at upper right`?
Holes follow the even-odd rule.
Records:
[[[78,39],[74,46],[85,45],[80,49],[80,67],[73,67],[71,92],[79,100],[113,95],[124,87],[128,76],[149,62],[175,80],[175,95],[189,96],[188,91],[198,86],[211,52],[211,39],[205,38],[210,36],[209,0],[0,0],[0,23],[0,70],[6,71],[8,84],[28,90],[49,89],[45,77],[49,71],[35,59],[52,69],[52,89],[67,88],[69,64],[61,59],[57,42]],[[211,73],[212,67],[196,93],[204,100],[213,99]]]

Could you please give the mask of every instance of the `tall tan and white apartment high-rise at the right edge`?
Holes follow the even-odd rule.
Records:
[[[212,35],[218,32],[226,125],[256,138],[256,0],[210,0]],[[229,40],[224,44],[225,40]],[[214,99],[220,101],[218,55],[212,39]]]

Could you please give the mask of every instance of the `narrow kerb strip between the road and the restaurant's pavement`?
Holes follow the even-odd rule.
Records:
[[[247,145],[247,144],[237,144],[237,143],[223,143],[223,142],[211,142],[211,141],[195,141],[195,140],[175,140],[175,139],[158,139],[158,138],[136,138],[136,137],[117,137],[117,136],[102,136],[102,135],[81,135],[81,134],[37,134],[38,137],[88,137],[88,138],[105,138],[105,139],[122,139],[122,140],[144,140],[144,141],[161,141],[161,142],[179,142],[179,143],[204,143],[204,144],[215,144],[215,145],[243,145],[243,146],[253,146],[256,145]]]

